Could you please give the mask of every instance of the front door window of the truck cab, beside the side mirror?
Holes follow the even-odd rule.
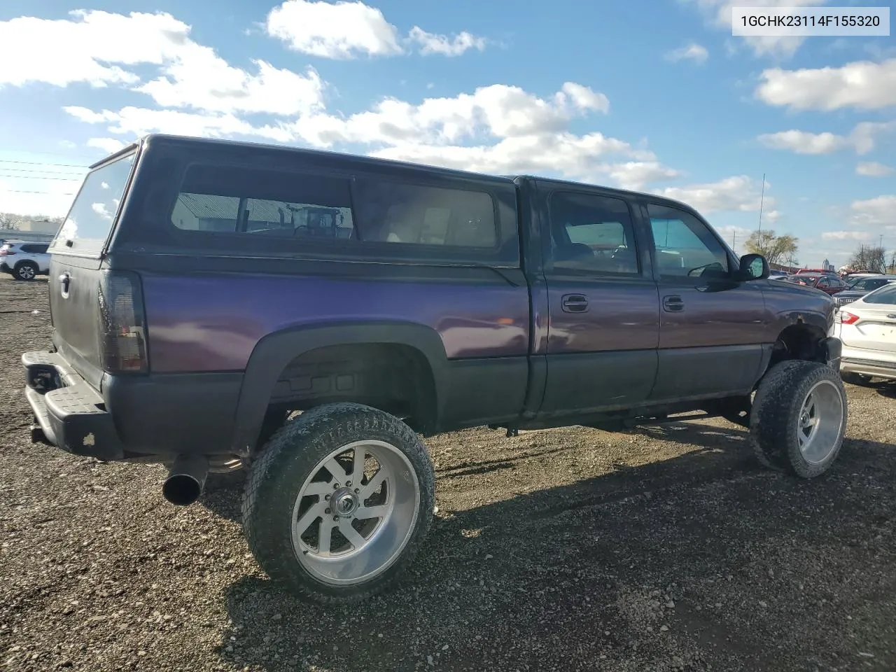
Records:
[[[661,276],[728,277],[728,253],[702,221],[665,205],[651,203],[648,212]]]

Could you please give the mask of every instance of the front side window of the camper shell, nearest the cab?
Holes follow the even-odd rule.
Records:
[[[366,242],[494,249],[499,234],[490,194],[361,180],[360,237]]]

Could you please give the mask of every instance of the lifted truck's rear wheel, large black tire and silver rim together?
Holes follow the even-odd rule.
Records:
[[[321,406],[271,437],[246,480],[243,524],[272,580],[321,603],[367,599],[397,582],[432,522],[435,474],[399,418]]]

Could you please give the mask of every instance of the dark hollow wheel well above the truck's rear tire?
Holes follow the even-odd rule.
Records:
[[[416,431],[435,425],[436,391],[426,356],[409,345],[366,343],[309,350],[280,372],[269,416],[355,401],[404,418]]]

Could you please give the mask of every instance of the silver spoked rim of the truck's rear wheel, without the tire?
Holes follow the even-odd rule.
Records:
[[[319,461],[299,490],[293,548],[321,582],[366,582],[401,556],[419,508],[417,474],[401,450],[383,441],[347,444]]]

